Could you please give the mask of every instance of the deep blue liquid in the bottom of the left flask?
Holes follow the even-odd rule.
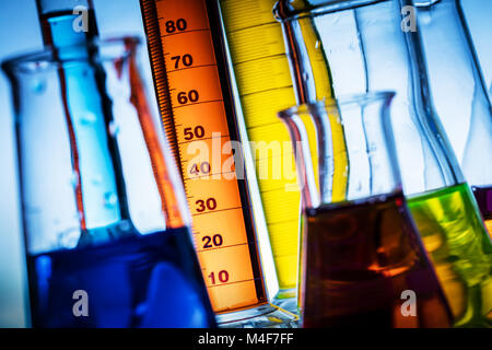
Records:
[[[186,228],[27,256],[27,266],[35,327],[215,323]]]

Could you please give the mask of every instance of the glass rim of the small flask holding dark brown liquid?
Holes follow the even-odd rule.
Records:
[[[395,97],[396,92],[394,91],[370,91],[367,93],[362,94],[350,94],[350,95],[341,95],[339,97],[329,97],[321,101],[316,101],[313,103],[303,103],[286,109],[280,110],[277,113],[279,118],[285,119],[290,118],[294,115],[308,113],[312,109],[335,109],[338,112],[340,106],[350,106],[350,105],[361,105],[367,104],[376,101],[391,101]]]

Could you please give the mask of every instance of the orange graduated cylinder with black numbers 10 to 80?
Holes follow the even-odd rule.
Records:
[[[218,4],[140,3],[161,117],[218,320],[223,327],[295,323],[295,315],[271,303],[279,282],[255,174],[245,168]]]

